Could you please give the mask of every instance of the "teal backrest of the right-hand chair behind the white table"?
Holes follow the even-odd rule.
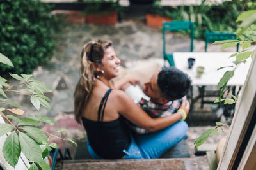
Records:
[[[205,52],[207,52],[207,44],[214,41],[222,41],[227,39],[236,39],[236,34],[227,32],[210,32],[205,31]],[[237,44],[236,51],[238,52],[239,43]]]

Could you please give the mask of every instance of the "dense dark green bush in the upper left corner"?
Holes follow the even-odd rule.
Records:
[[[54,53],[56,17],[38,0],[2,0],[0,10],[0,52],[15,65],[0,64],[0,73],[31,73]]]

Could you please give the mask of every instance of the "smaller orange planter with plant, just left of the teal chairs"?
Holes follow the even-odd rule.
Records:
[[[155,1],[152,9],[146,15],[148,27],[162,27],[164,21],[168,22],[171,20],[170,11],[164,10],[159,0]]]

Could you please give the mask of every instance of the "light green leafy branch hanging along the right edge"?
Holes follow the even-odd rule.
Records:
[[[224,103],[224,104],[234,104],[237,102],[237,97],[233,94],[230,94],[232,96],[231,99],[222,99],[222,96],[224,94],[225,88],[227,87],[227,83],[234,76],[234,71],[237,69],[237,67],[240,66],[240,64],[243,64],[246,62],[246,60],[249,57],[253,57],[253,50],[248,50],[248,47],[252,45],[252,43],[256,42],[256,25],[254,24],[256,20],[256,10],[250,10],[241,13],[237,17],[236,22],[241,22],[240,27],[237,29],[235,34],[237,35],[237,39],[235,40],[223,40],[223,41],[215,41],[213,44],[222,44],[221,48],[229,48],[232,46],[236,46],[237,44],[242,45],[241,52],[234,53],[230,55],[230,57],[235,57],[235,60],[233,64],[235,66],[226,66],[226,67],[232,67],[233,69],[230,71],[226,71],[223,75],[223,77],[220,79],[217,88],[221,89],[220,96],[218,99],[214,101],[214,103]],[[239,40],[240,39],[240,40]],[[218,70],[223,69],[225,67],[220,67]],[[218,132],[218,127],[221,127],[221,125],[225,125],[225,123],[232,121],[232,119],[227,120],[224,123],[216,122],[216,127],[214,129],[208,129],[205,131],[201,136],[195,139],[195,147],[202,145],[209,136],[212,136]],[[222,132],[223,129],[221,127]]]

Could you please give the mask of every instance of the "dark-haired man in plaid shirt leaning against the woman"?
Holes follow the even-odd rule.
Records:
[[[191,80],[187,74],[175,67],[164,67],[145,83],[143,92],[138,85],[133,86],[130,83],[123,85],[122,89],[152,118],[167,117],[177,112],[185,120],[186,112],[180,106],[189,104],[186,94],[190,86]],[[128,125],[138,134],[148,132],[131,122]]]

